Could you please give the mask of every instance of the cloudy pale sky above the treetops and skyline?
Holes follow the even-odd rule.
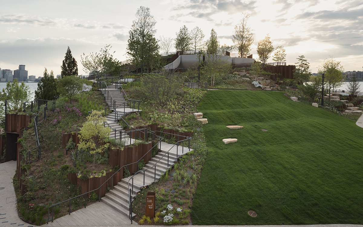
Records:
[[[183,25],[199,27],[205,40],[215,29],[220,44],[233,45],[234,26],[242,12],[250,14],[252,51],[267,34],[274,47],[284,46],[287,64],[305,56],[316,73],[333,57],[346,71],[362,71],[362,0],[16,0],[3,1],[0,14],[0,68],[25,65],[28,75],[42,76],[44,68],[61,73],[67,47],[83,70],[81,55],[111,45],[114,58],[129,59],[127,40],[140,7],[150,8],[156,38],[176,37]],[[272,57],[268,62],[272,62]]]

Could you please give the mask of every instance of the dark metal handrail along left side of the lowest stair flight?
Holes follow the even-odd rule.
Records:
[[[142,129],[141,129],[142,130]],[[156,135],[155,134],[155,138],[158,138],[157,140],[162,140],[163,138],[162,137],[160,137],[160,136],[158,136],[158,135]],[[158,141],[158,143],[156,143],[154,146],[152,146],[151,147],[151,149],[149,150],[149,151],[147,151],[147,153],[146,154],[148,154],[149,152],[152,152],[152,150],[154,149],[154,147],[156,146],[156,145],[158,145],[159,143],[160,143],[160,141]],[[145,155],[146,155],[145,154]],[[152,156],[152,155],[151,155]],[[144,156],[143,156],[144,157]],[[81,194],[81,195],[77,195],[77,196],[74,196],[73,198],[70,198],[70,199],[66,199],[66,200],[64,200],[64,201],[62,201],[62,202],[59,202],[59,203],[56,203],[56,204],[52,204],[52,206],[49,206],[48,207],[48,219],[47,219],[47,224],[49,223],[49,216],[50,216],[50,207],[52,207],[52,222],[53,222],[53,215],[54,215],[54,206],[57,206],[57,205],[59,205],[59,204],[61,204],[61,203],[64,203],[64,202],[67,202],[67,201],[69,201],[69,215],[70,215],[70,204],[71,204],[71,200],[72,199],[75,199],[75,198],[78,198],[78,197],[80,197],[80,196],[85,196],[85,208],[86,208],[86,205],[87,205],[87,194],[89,194],[89,193],[91,193],[91,192],[93,192],[93,191],[96,191],[96,190],[99,190],[99,193],[98,193],[98,202],[101,202],[101,187],[106,183],[106,182],[108,182],[111,178],[111,181],[112,181],[112,183],[111,183],[111,189],[113,189],[113,177],[114,177],[114,175],[117,173],[117,172],[119,172],[121,169],[123,169],[124,167],[127,167],[127,177],[129,177],[129,165],[132,165],[132,164],[135,164],[135,163],[139,163],[140,162],[140,160],[141,160],[142,158],[140,158],[138,161],[136,161],[136,162],[133,162],[133,163],[129,163],[129,164],[127,164],[127,165],[123,165],[122,167],[120,167],[117,171],[115,171],[115,173],[113,174],[113,175],[111,175],[111,177],[109,178],[109,179],[107,179],[101,186],[99,186],[97,189],[94,189],[94,190],[91,190],[91,191],[88,191],[88,192],[85,192],[85,193],[83,193],[83,194]]]

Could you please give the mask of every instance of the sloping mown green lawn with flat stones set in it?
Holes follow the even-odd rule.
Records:
[[[355,121],[282,92],[209,90],[197,108],[209,122],[208,157],[193,224],[363,223],[363,128]]]

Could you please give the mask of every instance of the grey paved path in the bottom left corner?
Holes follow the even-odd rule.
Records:
[[[0,163],[0,227],[33,226],[23,222],[16,210],[16,196],[12,183],[16,161]]]

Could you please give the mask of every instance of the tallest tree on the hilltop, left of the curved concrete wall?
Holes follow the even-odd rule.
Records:
[[[137,70],[141,67],[143,73],[143,67],[153,68],[159,61],[159,44],[155,38],[156,20],[150,14],[150,8],[143,6],[136,11],[135,16],[129,31],[126,53],[137,66]]]

